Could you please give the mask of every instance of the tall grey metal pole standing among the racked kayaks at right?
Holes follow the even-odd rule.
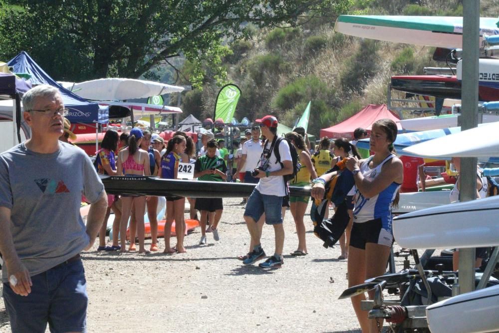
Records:
[[[463,82],[461,130],[478,126],[478,63],[480,57],[480,1],[463,1]],[[477,158],[461,159],[460,201],[477,198]],[[459,250],[461,293],[475,290],[475,249]]]

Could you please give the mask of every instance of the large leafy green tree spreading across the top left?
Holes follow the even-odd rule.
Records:
[[[303,17],[345,11],[351,0],[4,0],[0,1],[0,58],[25,50],[61,80],[136,78],[185,56],[224,77],[222,38],[259,27],[296,25]]]

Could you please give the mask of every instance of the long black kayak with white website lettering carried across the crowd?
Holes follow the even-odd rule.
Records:
[[[250,196],[255,184],[161,179],[151,176],[100,176],[108,194],[161,197],[241,198]],[[310,187],[289,186],[292,196],[310,196]]]

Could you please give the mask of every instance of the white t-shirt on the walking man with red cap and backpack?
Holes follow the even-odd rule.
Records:
[[[270,145],[271,142],[267,142],[267,144],[265,145],[265,149],[270,149]],[[287,144],[286,140],[281,140],[279,144],[279,154],[281,162],[292,161],[291,152],[289,151],[289,145]],[[259,165],[261,166],[261,164],[264,164],[265,160],[265,157],[262,156],[262,161],[259,161]],[[269,161],[266,165],[266,171],[269,172],[282,169],[280,163],[278,163],[277,159],[275,158],[273,148],[270,154]],[[283,197],[286,195],[286,186],[287,184],[284,184],[283,176],[270,176],[260,178],[258,185],[256,185],[256,190],[258,190],[258,192],[260,192],[261,194]]]

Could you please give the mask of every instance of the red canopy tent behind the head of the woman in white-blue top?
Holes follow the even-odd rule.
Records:
[[[344,137],[347,139],[353,139],[353,131],[356,128],[362,127],[367,130],[368,133],[371,133],[372,124],[376,120],[383,118],[392,119],[397,123],[397,128],[399,130],[402,129],[400,124],[397,122],[399,120],[398,116],[394,112],[388,110],[386,104],[369,104],[345,121],[334,126],[321,129],[320,137],[322,138],[327,136],[330,139]]]

